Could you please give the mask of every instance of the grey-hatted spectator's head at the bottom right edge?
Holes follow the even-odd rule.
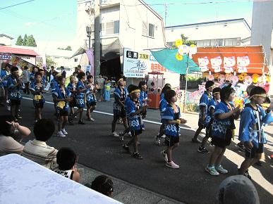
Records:
[[[253,183],[243,175],[231,176],[219,186],[215,204],[259,204],[259,196]]]

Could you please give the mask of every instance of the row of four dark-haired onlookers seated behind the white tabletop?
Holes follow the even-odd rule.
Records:
[[[38,120],[33,128],[35,139],[28,141],[25,146],[20,141],[30,135],[31,131],[28,127],[20,125],[11,115],[0,115],[0,127],[0,156],[17,153],[63,177],[80,181],[77,153],[71,148],[63,147],[58,151],[47,145],[47,141],[55,131],[52,120]],[[105,175],[96,177],[91,185],[85,184],[85,186],[107,196],[112,196],[114,191],[113,181]]]

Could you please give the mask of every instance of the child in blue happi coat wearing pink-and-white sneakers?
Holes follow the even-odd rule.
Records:
[[[165,125],[165,144],[167,146],[162,155],[166,162],[166,167],[178,169],[179,165],[172,160],[172,152],[179,144],[179,125],[185,124],[187,120],[181,118],[180,108],[176,106],[177,96],[176,91],[168,90],[164,96],[168,105],[162,116],[162,122]]]

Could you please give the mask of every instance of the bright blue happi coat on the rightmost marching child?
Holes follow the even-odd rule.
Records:
[[[267,140],[262,127],[271,122],[273,122],[271,112],[265,113],[265,110],[258,105],[255,110],[249,103],[245,104],[241,112],[239,140],[252,141],[255,147],[258,147],[258,144],[265,144]]]

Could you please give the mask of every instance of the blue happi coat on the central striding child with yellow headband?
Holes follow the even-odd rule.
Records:
[[[140,108],[142,108],[142,102],[139,100],[133,101],[133,99],[127,97],[125,107],[130,130],[135,131],[142,129],[143,124],[141,114],[139,113],[138,115],[132,115],[132,113],[135,113],[135,111],[140,110]]]

